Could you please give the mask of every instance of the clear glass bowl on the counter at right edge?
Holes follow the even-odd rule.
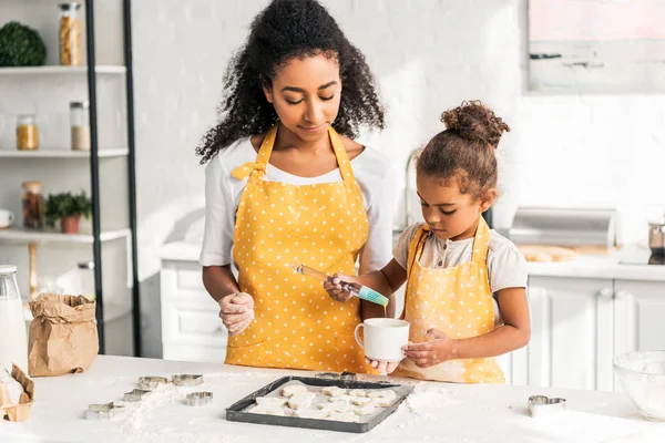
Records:
[[[665,351],[616,356],[614,372],[645,419],[665,421]]]

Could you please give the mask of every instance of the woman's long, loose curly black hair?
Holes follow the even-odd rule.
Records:
[[[263,92],[277,71],[294,58],[337,58],[344,91],[332,127],[348,137],[358,127],[383,128],[383,107],[362,53],[316,0],[273,0],[253,21],[245,45],[224,75],[221,122],[207,131],[196,155],[201,164],[234,141],[267,131],[277,114]]]

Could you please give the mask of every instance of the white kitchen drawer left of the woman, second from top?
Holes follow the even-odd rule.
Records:
[[[219,310],[188,302],[162,301],[162,341],[174,344],[226,347],[227,331],[222,324]]]

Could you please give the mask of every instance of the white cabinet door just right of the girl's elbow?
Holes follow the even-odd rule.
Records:
[[[529,384],[611,390],[597,363],[613,352],[612,280],[530,277],[529,295]]]

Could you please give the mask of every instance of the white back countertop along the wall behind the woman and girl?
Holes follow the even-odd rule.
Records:
[[[171,243],[162,247],[160,256],[164,261],[198,262],[200,253],[201,245]],[[627,256],[643,256],[646,260],[648,249],[631,247],[607,256],[579,256],[572,261],[529,262],[528,270],[530,276],[665,281],[665,266],[621,264],[622,257]]]

